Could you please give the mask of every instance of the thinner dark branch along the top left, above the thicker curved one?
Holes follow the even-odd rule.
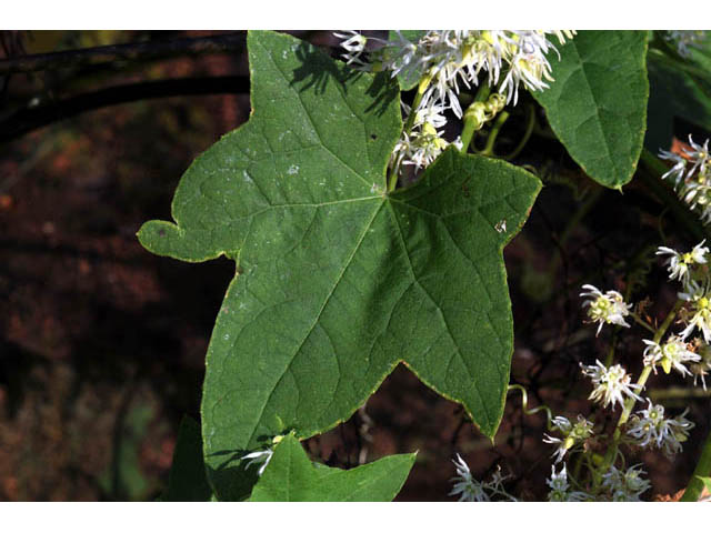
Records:
[[[117,61],[143,61],[172,56],[239,52],[244,50],[246,42],[246,33],[240,32],[21,56],[1,60],[0,76],[13,72],[37,72],[39,70],[98,66]]]

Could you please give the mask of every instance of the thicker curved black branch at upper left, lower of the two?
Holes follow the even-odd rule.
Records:
[[[109,105],[151,98],[247,92],[249,92],[249,78],[244,76],[182,78],[111,87],[37,108],[21,109],[0,122],[0,142],[17,139],[52,122]]]

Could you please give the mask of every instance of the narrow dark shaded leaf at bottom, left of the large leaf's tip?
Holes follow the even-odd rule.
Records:
[[[202,459],[200,424],[190,416],[183,416],[163,501],[209,502],[211,496],[212,489],[208,483]]]

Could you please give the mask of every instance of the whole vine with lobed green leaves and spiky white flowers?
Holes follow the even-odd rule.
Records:
[[[498,132],[530,91],[590,178],[619,189],[635,171],[648,32],[334,37],[342,60],[290,36],[250,32],[250,120],[188,169],[173,220],[139,231],[141,244],[160,255],[236,262],[207,353],[201,431],[183,422],[164,499],[393,499],[414,454],[343,471],[312,462],[299,441],[348,419],[400,362],[493,438],[513,351],[502,250],[541,188],[509,162],[530,138],[532,101],[531,127],[508,155],[497,155]],[[699,37],[663,42],[689,50]],[[625,87],[625,97],[610,87]],[[487,145],[478,150],[484,128]],[[677,184],[705,177],[705,145],[692,147],[668,173]],[[693,197],[697,205],[701,198]],[[659,329],[647,324],[653,338],[642,375],[632,383],[608,360],[582,366],[590,400],[622,410],[614,434],[605,440],[593,420],[552,416],[545,408],[544,439],[555,446],[551,500],[639,499],[649,482],[641,465],[624,466],[620,445],[674,454],[693,425],[642,393],[658,369],[691,373],[705,388],[708,249],[660,252],[684,292]],[[642,321],[617,291],[584,289],[598,332]],[[665,338],[675,315],[687,328]],[[567,466],[571,456],[599,453],[603,441],[602,460],[584,463],[594,466]],[[479,482],[461,456],[454,465],[451,495],[515,500],[504,486],[510,475],[498,470]]]

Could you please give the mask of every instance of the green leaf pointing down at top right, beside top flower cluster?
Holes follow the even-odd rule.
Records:
[[[555,81],[531,94],[571,158],[620,189],[637,169],[647,121],[647,32],[580,31],[548,57]]]

